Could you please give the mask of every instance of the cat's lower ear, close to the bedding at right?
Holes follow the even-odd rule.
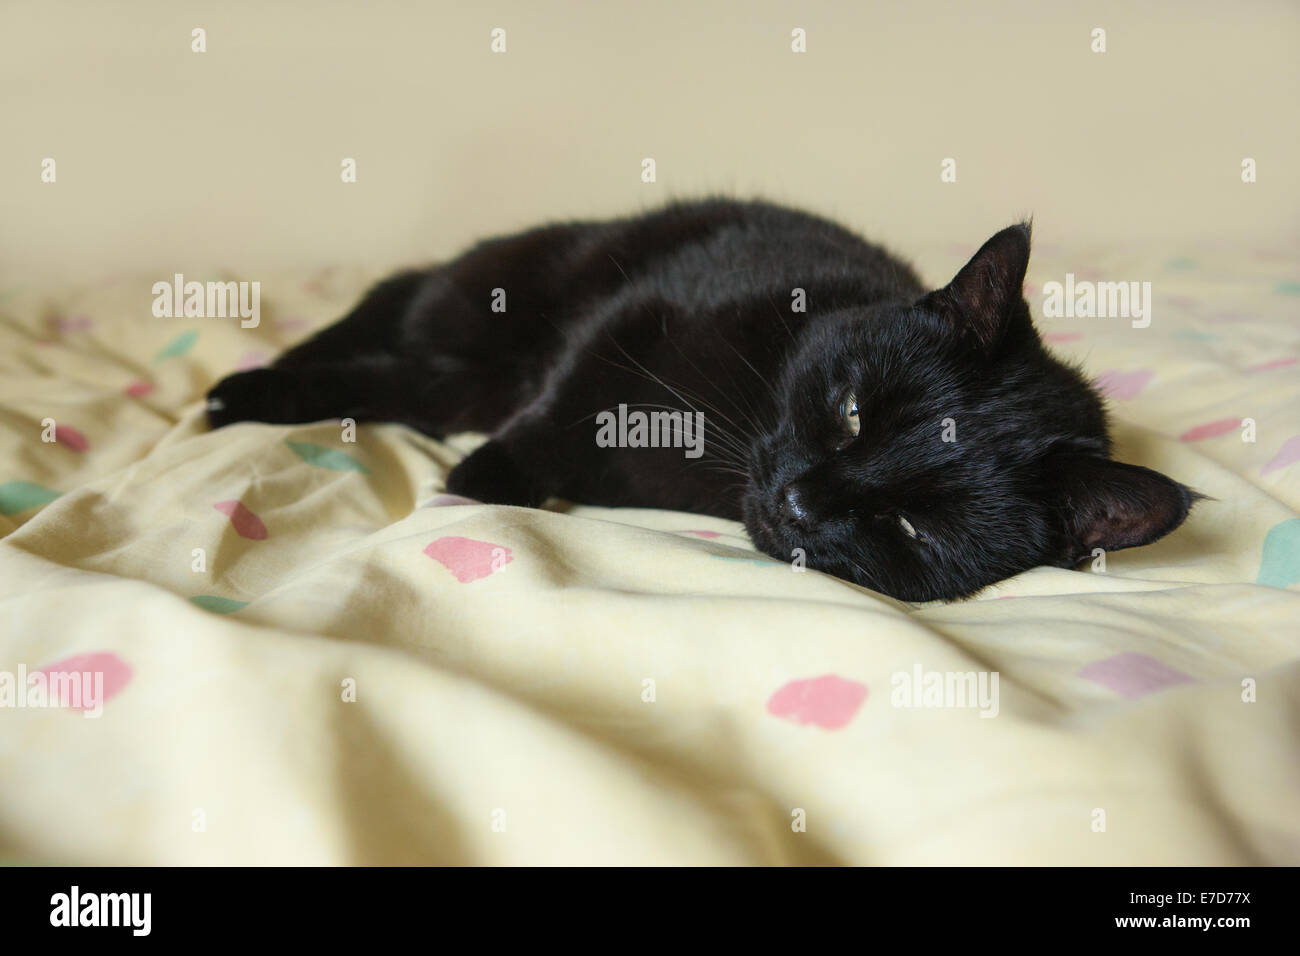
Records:
[[[1158,471],[1084,454],[1053,454],[1046,460],[1053,503],[1065,522],[1070,561],[1100,548],[1149,545],[1183,523],[1204,497]]]

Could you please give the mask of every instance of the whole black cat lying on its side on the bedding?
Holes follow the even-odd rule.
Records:
[[[880,247],[766,203],[549,225],[381,282],[222,380],[208,418],[490,432],[448,492],[740,519],[776,558],[954,598],[1154,541],[1199,497],[1108,459],[1101,401],[1034,329],[1028,258],[1010,226],[927,294]],[[619,406],[664,412],[660,447],[627,446],[645,429],[611,427]]]

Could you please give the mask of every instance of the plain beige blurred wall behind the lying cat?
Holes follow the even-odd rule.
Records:
[[[1300,225],[1295,3],[0,9],[0,258],[30,274],[387,267],[703,191],[904,251],[1026,213],[1067,248],[1266,248]]]

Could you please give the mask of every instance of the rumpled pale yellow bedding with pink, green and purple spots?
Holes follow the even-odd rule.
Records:
[[[474,436],[207,431],[378,274],[266,277],[252,328],[0,276],[0,858],[1300,864],[1296,254],[1039,243],[1115,457],[1209,497],[922,606],[725,520],[443,494]],[[1149,325],[1044,317],[1067,276]]]

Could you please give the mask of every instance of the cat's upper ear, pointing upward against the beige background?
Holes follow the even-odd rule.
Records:
[[[957,277],[918,306],[935,312],[989,350],[1011,321],[1023,298],[1030,268],[1030,224],[1008,226],[985,242]]]

